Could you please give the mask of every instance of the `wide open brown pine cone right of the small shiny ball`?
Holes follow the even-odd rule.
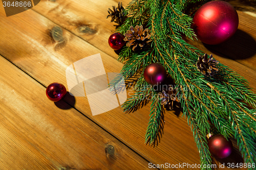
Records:
[[[150,42],[151,35],[148,34],[148,29],[143,30],[143,26],[133,26],[130,27],[130,30],[127,30],[124,34],[124,41],[128,41],[126,46],[133,46],[133,51],[141,50],[148,42]]]

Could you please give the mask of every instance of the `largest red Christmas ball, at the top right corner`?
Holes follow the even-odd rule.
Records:
[[[206,44],[219,44],[230,38],[238,29],[237,11],[227,2],[211,1],[196,12],[192,28]]]

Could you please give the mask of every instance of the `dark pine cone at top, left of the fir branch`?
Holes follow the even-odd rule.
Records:
[[[123,18],[124,18],[123,10],[124,10],[124,8],[122,6],[122,3],[119,2],[118,8],[113,6],[113,11],[109,8],[109,10],[108,10],[109,15],[106,16],[106,18],[111,16],[111,22],[115,21],[116,23],[118,23],[119,26],[121,26],[123,23]]]

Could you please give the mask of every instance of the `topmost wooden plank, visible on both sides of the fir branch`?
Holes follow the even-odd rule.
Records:
[[[117,6],[117,2],[110,0],[100,3],[92,0],[41,1],[40,5],[33,10],[117,59],[118,55],[108,45],[108,38],[115,30],[114,23],[111,23],[110,19],[105,19],[108,15],[108,8],[112,8],[112,5]],[[122,1],[122,3],[125,6],[130,3],[130,0]],[[229,3],[243,11],[254,10],[256,13],[255,8],[249,7],[249,2],[247,6],[246,2],[241,3],[238,0]],[[256,17],[241,11],[238,11],[238,14],[240,25],[236,35],[219,46],[211,45],[207,48],[213,48],[211,51],[214,54],[221,54],[225,58],[230,58],[256,70],[253,66],[256,62]],[[87,31],[80,32],[81,27],[85,27]],[[205,50],[205,48],[200,49]],[[230,49],[237,49],[237,51]]]

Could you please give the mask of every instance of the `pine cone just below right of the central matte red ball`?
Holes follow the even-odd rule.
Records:
[[[159,92],[158,95],[160,96],[161,105],[165,105],[165,107],[169,108],[170,110],[174,109],[174,104],[179,108],[178,103],[180,100],[177,96],[177,90],[177,88],[173,88],[172,86],[168,85],[167,89],[164,88],[162,92]]]

